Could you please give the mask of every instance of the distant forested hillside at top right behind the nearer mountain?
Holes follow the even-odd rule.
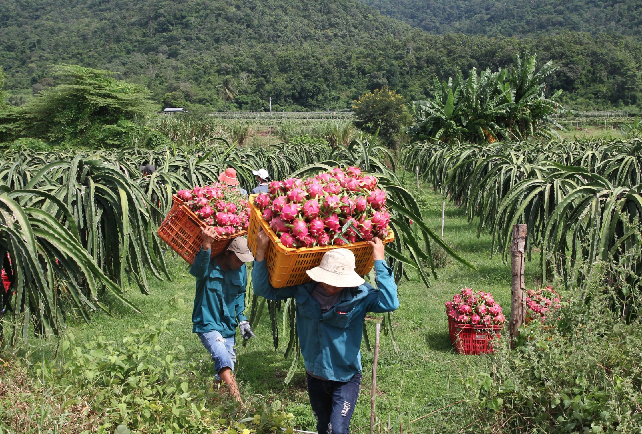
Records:
[[[639,0],[363,0],[391,17],[436,33],[532,35],[561,30],[642,35]]]

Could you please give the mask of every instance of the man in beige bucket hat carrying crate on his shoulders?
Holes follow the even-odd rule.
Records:
[[[269,243],[268,235],[259,230],[252,267],[254,293],[268,300],[295,298],[297,333],[317,431],[347,434],[361,384],[365,315],[399,308],[397,285],[384,260],[385,247],[379,238],[367,241],[372,246],[378,289],[354,272],[354,254],[345,248],[325,252],[321,264],[306,272],[313,282],[275,289],[265,261]]]

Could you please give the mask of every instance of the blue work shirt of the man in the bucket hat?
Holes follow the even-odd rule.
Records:
[[[349,381],[361,372],[361,334],[368,312],[391,312],[399,308],[397,285],[385,261],[374,261],[378,290],[365,282],[343,289],[340,301],[321,313],[311,292],[317,282],[275,289],[268,281],[265,261],[254,261],[254,293],[268,300],[294,297],[297,302],[297,333],[306,370],[321,378]]]

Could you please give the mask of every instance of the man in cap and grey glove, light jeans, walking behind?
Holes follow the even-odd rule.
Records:
[[[230,388],[230,393],[240,402],[234,378],[234,337],[238,325],[241,336],[247,340],[254,333],[243,315],[247,270],[245,263],[254,261],[247,247],[247,239],[236,237],[227,249],[210,259],[215,238],[214,227],[201,230],[203,244],[196,254],[189,273],[196,277],[196,295],[192,311],[192,331],[209,351],[216,369],[216,379]]]

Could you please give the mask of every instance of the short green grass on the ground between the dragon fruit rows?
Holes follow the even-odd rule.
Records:
[[[427,210],[425,215],[435,232],[440,231],[441,201],[440,196],[425,191],[422,193],[421,202]],[[382,334],[377,371],[377,417],[387,424],[390,416],[393,424],[391,432],[399,432],[400,419],[404,433],[426,433],[433,429],[435,432],[457,432],[470,422],[463,415],[465,405],[458,404],[408,426],[408,421],[465,399],[460,379],[467,376],[471,365],[465,356],[456,354],[452,349],[444,308],[447,300],[465,285],[492,293],[505,315],[508,317],[510,314],[510,265],[504,264],[499,254],[490,258],[490,237],[482,235],[478,239],[476,227],[469,225],[463,211],[447,204],[444,239],[478,270],[471,270],[448,259],[447,265],[438,270],[437,280],[431,281],[429,289],[413,273],[409,273],[411,281],[404,279],[401,282],[401,308],[393,315],[399,351],[395,352],[390,336]],[[538,263],[538,257],[534,256],[532,262],[526,265],[526,285],[529,287],[537,286],[534,281],[539,272]],[[114,302],[113,317],[97,313],[90,325],[70,321],[67,323],[67,332],[74,333],[82,341],[101,330],[106,338],[120,341],[132,328],[155,324],[158,318],[153,315],[166,306],[169,298],[180,292],[184,293],[186,306],[174,311],[173,317],[178,322],[171,326],[171,334],[160,345],[174,345],[178,337],[186,348],[187,359],[206,360],[209,355],[196,335],[191,333],[194,279],[187,272],[186,263],[178,259],[170,262],[170,268],[173,281],[153,282],[152,295],[144,296],[137,290],[130,291],[129,297],[139,306],[141,314]],[[373,348],[375,323],[379,320],[380,315],[367,320]],[[245,394],[279,399],[289,412],[294,413],[296,428],[314,431],[315,422],[308,404],[302,363],[290,385],[285,385],[283,379],[290,367],[290,361],[283,358],[286,338],[282,338],[281,347],[275,350],[268,315],[261,318],[255,332],[257,337],[250,340],[247,347],[238,348],[236,370]],[[37,345],[35,340],[31,343]],[[53,349],[54,346],[49,343],[48,348]],[[373,353],[362,347],[363,383],[352,418],[353,432],[369,432],[369,428],[358,429],[369,426],[372,359]]]

